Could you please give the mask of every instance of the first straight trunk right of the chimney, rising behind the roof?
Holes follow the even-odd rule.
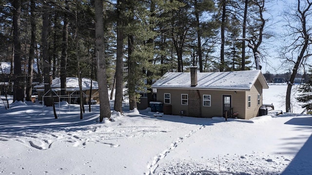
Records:
[[[222,0],[220,72],[224,71],[225,66],[224,65],[225,19],[226,19],[226,0]]]

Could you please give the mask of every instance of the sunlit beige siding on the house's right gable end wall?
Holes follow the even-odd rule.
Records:
[[[260,94],[260,104],[258,105],[258,94]],[[251,107],[248,107],[248,96],[251,96]],[[250,91],[246,92],[246,97],[245,97],[245,106],[246,106],[246,118],[245,119],[251,119],[253,117],[258,116],[259,108],[262,105],[262,86],[257,80],[254,83],[254,86],[251,88]]]

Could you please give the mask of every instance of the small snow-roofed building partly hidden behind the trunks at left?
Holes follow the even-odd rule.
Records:
[[[38,100],[42,101],[44,96],[44,85],[36,85],[34,89],[38,92]],[[52,80],[51,89],[55,92],[54,98],[55,101],[58,101],[59,98],[66,98],[67,102],[70,104],[77,104],[80,99],[80,91],[78,78],[76,77],[66,77],[66,93],[65,97],[60,97],[60,78]],[[92,81],[92,91],[91,91],[91,79],[82,78],[82,95],[84,96],[85,104],[89,101],[89,96],[91,93],[91,103],[99,103],[98,100],[98,82]]]

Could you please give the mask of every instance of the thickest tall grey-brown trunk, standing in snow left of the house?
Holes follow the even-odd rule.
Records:
[[[106,64],[104,52],[104,19],[103,2],[95,0],[95,18],[96,18],[96,54],[97,54],[97,74],[98,74],[98,94],[100,101],[99,121],[102,122],[105,117],[111,119],[111,109],[108,98]],[[101,76],[101,77],[99,77]]]

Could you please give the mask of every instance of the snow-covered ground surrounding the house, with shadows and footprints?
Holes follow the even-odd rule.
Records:
[[[264,89],[264,104],[285,110],[285,85]],[[12,101],[11,101],[12,103]],[[111,106],[113,101],[111,102]],[[98,123],[98,105],[79,120],[78,105],[0,105],[3,175],[310,175],[312,116],[252,120],[113,113]],[[86,106],[87,107],[87,106]],[[87,108],[86,108],[86,111]]]

